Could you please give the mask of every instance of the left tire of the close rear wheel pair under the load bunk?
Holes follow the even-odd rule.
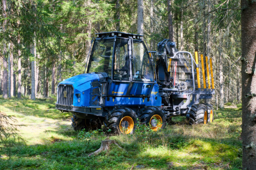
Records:
[[[207,124],[208,114],[207,107],[203,104],[192,105],[189,113],[189,124]]]

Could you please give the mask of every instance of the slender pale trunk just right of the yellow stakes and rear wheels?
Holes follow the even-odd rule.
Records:
[[[220,108],[224,108],[224,77],[223,77],[223,55],[222,39],[219,41],[219,86],[220,86]]]

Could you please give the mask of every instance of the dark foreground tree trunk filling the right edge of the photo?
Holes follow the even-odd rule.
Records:
[[[256,170],[256,1],[241,0],[243,170]]]

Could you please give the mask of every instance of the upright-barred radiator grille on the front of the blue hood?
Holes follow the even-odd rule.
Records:
[[[72,85],[58,86],[58,104],[73,105],[74,88]]]

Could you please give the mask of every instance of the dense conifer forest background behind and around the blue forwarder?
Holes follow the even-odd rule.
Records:
[[[144,0],[143,34],[156,51],[169,37],[179,51],[212,58],[216,95],[212,102],[241,100],[239,0]],[[0,94],[3,98],[56,94],[63,79],[84,72],[97,32],[135,33],[137,1],[1,0]],[[140,9],[141,10],[141,9]],[[169,20],[169,24],[168,24]],[[140,32],[141,33],[141,32]],[[200,68],[201,69],[201,68]],[[202,76],[202,75],[201,75]],[[201,81],[202,82],[202,81]]]

